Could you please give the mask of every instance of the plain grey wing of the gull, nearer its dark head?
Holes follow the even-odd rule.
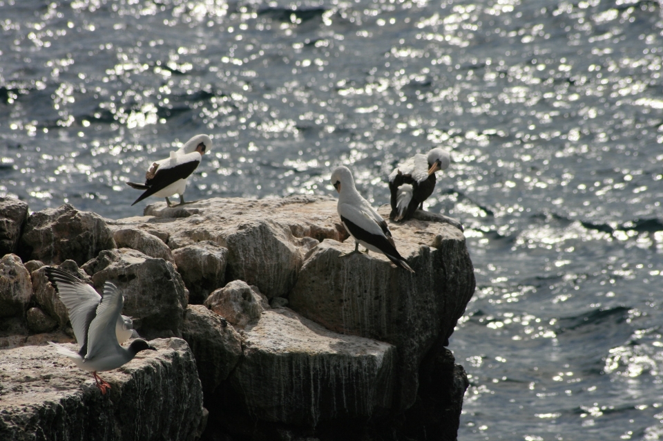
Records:
[[[85,359],[91,359],[108,350],[115,351],[119,344],[115,335],[117,317],[122,312],[124,297],[122,292],[111,282],[104,284],[104,297],[97,307],[97,317],[90,323],[88,330],[88,352]]]

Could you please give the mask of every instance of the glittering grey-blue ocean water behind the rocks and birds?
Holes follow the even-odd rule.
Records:
[[[663,439],[661,11],[0,0],[0,195],[140,215],[124,182],[209,133],[188,200],[333,194],[343,164],[381,205],[447,147],[427,209],[477,274],[459,440]]]

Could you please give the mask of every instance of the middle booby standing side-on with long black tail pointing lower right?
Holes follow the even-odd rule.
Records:
[[[368,250],[381,252],[387,259],[405,270],[414,272],[407,265],[401,254],[398,254],[392,232],[389,231],[385,220],[376,212],[354,187],[352,172],[347,167],[337,167],[332,172],[332,184],[338,191],[338,216],[347,230],[354,238],[354,251],[359,252],[359,244]],[[349,254],[352,254],[349,253]]]

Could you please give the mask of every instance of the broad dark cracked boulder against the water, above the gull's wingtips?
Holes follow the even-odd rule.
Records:
[[[111,248],[115,248],[113,232],[102,216],[66,204],[32,213],[21,236],[19,255],[24,261],[58,265],[71,259],[82,265]]]

